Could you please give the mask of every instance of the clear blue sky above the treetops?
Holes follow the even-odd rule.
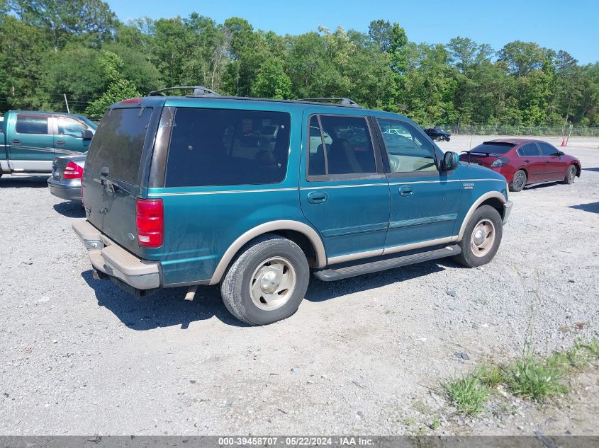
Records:
[[[189,16],[223,23],[239,16],[254,28],[301,34],[318,25],[368,30],[371,20],[398,22],[413,42],[447,43],[457,35],[496,50],[512,40],[566,50],[579,62],[599,61],[599,0],[108,0],[121,21]]]

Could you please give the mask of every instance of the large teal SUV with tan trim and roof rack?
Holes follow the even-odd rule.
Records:
[[[73,228],[95,278],[138,295],[186,286],[188,299],[220,284],[234,316],[262,325],[298,309],[310,272],[474,267],[498,250],[505,178],[402,115],[164,91],[113,105],[89,147]]]

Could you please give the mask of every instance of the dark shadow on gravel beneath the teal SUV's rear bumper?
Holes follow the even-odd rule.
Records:
[[[110,310],[132,330],[154,330],[175,325],[185,330],[191,322],[205,321],[213,316],[227,325],[247,326],[227,311],[216,286],[198,287],[194,301],[183,299],[186,288],[162,289],[138,299],[110,280],[94,280],[91,270],[82,272],[82,277],[94,289],[99,306]]]

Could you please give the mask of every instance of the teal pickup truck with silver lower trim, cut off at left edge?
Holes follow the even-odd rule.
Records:
[[[50,173],[58,156],[87,151],[96,125],[81,115],[9,110],[0,121],[0,176]]]

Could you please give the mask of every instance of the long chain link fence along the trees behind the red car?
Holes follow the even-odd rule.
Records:
[[[535,135],[555,136],[568,135],[569,126],[523,126],[523,125],[441,125],[436,126],[446,130],[450,134],[464,135]],[[576,127],[572,128],[572,135],[576,137],[598,137],[599,127]]]

